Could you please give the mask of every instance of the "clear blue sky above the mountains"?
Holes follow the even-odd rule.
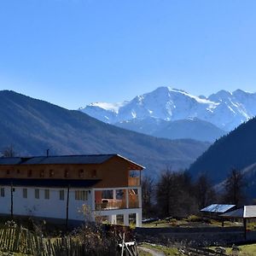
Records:
[[[256,1],[1,0],[0,90],[79,108],[256,91]]]

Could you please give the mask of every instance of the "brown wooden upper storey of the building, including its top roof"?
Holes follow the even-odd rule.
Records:
[[[140,186],[142,170],[119,154],[0,158],[0,179],[96,179],[96,188]]]

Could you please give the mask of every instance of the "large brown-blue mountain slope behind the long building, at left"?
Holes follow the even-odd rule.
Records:
[[[156,176],[167,167],[188,167],[209,143],[169,140],[127,131],[76,110],[67,110],[0,91],[0,150],[13,145],[20,156],[49,154],[122,154]]]

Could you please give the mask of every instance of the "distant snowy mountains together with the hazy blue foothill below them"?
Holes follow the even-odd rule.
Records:
[[[196,138],[214,142],[256,115],[256,93],[220,90],[206,97],[159,87],[136,96],[130,102],[95,102],[79,110],[131,131],[157,137]],[[194,132],[188,129],[188,123],[194,125],[194,128],[189,127],[197,131],[196,137],[191,136]]]

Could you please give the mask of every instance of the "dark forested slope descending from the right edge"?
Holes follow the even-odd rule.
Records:
[[[214,183],[227,177],[231,168],[242,170],[256,162],[256,119],[238,126],[227,136],[221,137],[189,167],[197,176],[206,172]]]

